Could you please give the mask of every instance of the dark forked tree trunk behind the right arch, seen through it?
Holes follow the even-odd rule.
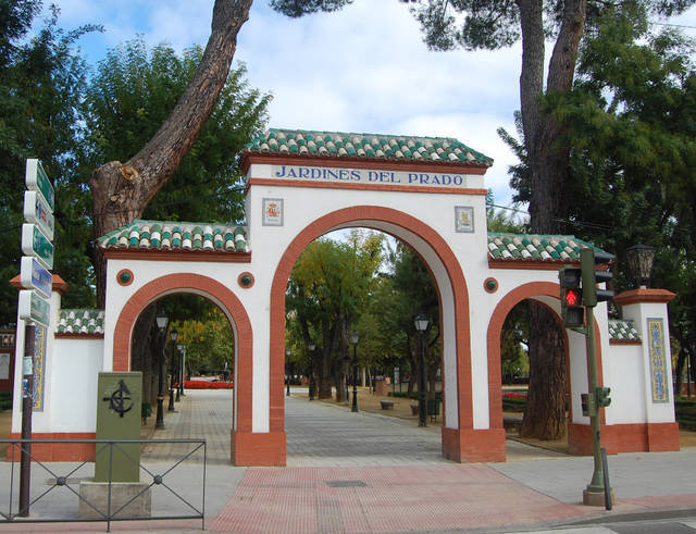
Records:
[[[530,215],[534,233],[564,231],[568,216],[570,148],[559,146],[561,129],[542,112],[544,23],[540,0],[519,0],[523,53],[520,102],[524,142],[532,175]],[[546,90],[572,88],[587,0],[567,0],[548,66]],[[530,392],[521,433],[554,439],[566,433],[566,362],[562,331],[542,305],[530,305]]]

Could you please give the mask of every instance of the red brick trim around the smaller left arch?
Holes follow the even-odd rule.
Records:
[[[220,282],[194,273],[175,273],[161,276],[139,288],[124,305],[113,335],[113,370],[130,369],[130,335],[142,310],[158,297],[173,293],[202,294],[227,312],[237,331],[237,358],[235,382],[237,402],[237,430],[251,432],[251,378],[252,378],[252,328],[244,306],[226,286]]]

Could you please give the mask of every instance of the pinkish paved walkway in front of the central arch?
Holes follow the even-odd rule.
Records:
[[[405,532],[582,517],[482,464],[248,470],[212,531]]]

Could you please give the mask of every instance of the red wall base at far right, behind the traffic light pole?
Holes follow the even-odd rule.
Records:
[[[601,445],[610,455],[679,450],[679,424],[602,424]],[[571,455],[592,455],[592,427],[587,424],[569,423],[568,448]]]

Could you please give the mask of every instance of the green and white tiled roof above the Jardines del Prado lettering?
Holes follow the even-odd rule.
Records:
[[[247,152],[490,166],[493,159],[450,137],[347,134],[272,128]]]

